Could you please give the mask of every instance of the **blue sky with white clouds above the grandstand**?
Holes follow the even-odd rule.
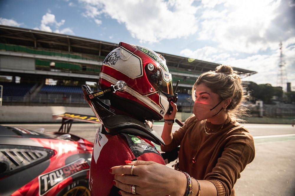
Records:
[[[282,42],[284,82],[295,91],[294,0],[0,0],[0,24],[227,64],[272,86]]]

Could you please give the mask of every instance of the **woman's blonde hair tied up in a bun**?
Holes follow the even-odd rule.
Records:
[[[204,84],[210,88],[212,92],[219,95],[221,100],[230,98],[231,102],[227,106],[227,111],[231,116],[237,117],[246,113],[247,109],[241,106],[241,103],[246,98],[241,85],[241,79],[237,71],[233,71],[231,66],[219,65],[215,71],[202,73],[192,88],[193,100],[195,100],[195,87],[199,84]],[[242,121],[241,119],[237,120]]]

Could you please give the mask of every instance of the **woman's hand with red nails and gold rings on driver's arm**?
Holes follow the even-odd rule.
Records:
[[[133,175],[131,175],[131,165]],[[127,165],[115,166],[113,184],[121,189],[121,195],[132,195],[130,185],[135,185],[137,195],[184,195],[186,176],[165,165],[153,161],[133,161]]]

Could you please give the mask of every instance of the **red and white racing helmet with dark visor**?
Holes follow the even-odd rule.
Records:
[[[161,120],[173,96],[172,75],[165,58],[154,51],[128,43],[119,43],[104,59],[99,74],[99,88],[124,81],[124,91],[107,95],[112,108],[135,118]]]

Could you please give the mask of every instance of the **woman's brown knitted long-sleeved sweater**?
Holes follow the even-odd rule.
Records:
[[[180,145],[181,171],[197,180],[211,181],[217,188],[218,196],[234,196],[233,187],[240,178],[240,172],[254,159],[253,137],[247,129],[230,117],[222,130],[212,135],[205,133],[204,122],[191,115],[185,125],[173,133],[172,142],[161,149],[169,152]],[[207,122],[206,127],[219,130],[221,125]],[[196,163],[192,162],[194,157]]]

